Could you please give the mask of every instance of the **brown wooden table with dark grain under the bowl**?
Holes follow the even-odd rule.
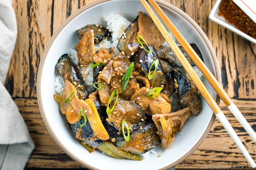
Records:
[[[5,86],[19,107],[35,142],[27,168],[81,168],[54,142],[42,120],[36,96],[36,76],[43,50],[54,31],[73,12],[93,0],[12,0],[18,35]],[[165,0],[185,11],[203,29],[217,54],[222,84],[256,130],[256,45],[208,19],[216,0]],[[234,116],[220,107],[256,159],[256,145]],[[216,119],[202,145],[176,168],[247,166],[248,163]]]

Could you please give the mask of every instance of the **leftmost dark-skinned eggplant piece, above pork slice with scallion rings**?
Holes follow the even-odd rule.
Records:
[[[63,54],[60,56],[58,62],[56,63],[56,70],[60,77],[63,78],[64,82],[67,79],[76,87],[76,91],[78,94],[80,94],[78,95],[79,99],[88,99],[89,92],[84,80],[76,64],[72,61],[68,54]]]

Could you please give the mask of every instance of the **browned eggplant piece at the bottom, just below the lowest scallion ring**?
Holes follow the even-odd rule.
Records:
[[[142,154],[150,151],[161,143],[157,128],[153,121],[146,122],[130,134],[129,142],[118,141],[116,146],[126,152]]]

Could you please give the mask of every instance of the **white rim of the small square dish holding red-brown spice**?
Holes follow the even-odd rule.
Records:
[[[248,41],[251,41],[252,43],[256,44],[256,39],[255,38],[252,38],[251,36],[247,35],[246,33],[243,33],[242,31],[237,29],[233,24],[228,23],[228,21],[224,17],[218,15],[221,1],[222,0],[217,0],[216,1],[216,3],[214,4],[214,6],[212,8],[212,11],[209,15],[209,19],[211,19],[213,22],[229,29],[231,32],[243,37],[244,39],[246,39]],[[250,17],[255,19],[256,16],[250,16]]]

